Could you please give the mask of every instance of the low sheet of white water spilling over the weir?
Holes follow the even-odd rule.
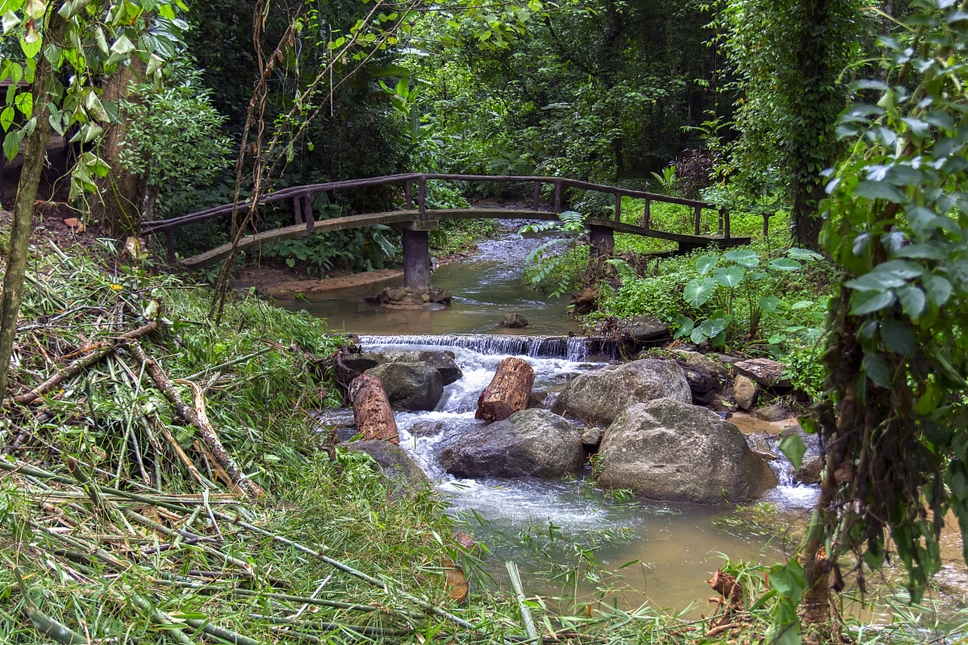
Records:
[[[460,347],[489,356],[527,356],[566,361],[610,361],[618,348],[600,337],[444,334],[424,336],[361,336],[363,345],[427,345]]]

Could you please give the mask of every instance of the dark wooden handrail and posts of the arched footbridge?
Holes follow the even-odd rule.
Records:
[[[260,204],[274,203],[279,201],[284,201],[287,199],[292,200],[292,209],[294,212],[294,224],[305,224],[307,231],[312,231],[313,226],[316,223],[315,216],[313,214],[312,199],[314,195],[319,192],[328,191],[341,191],[348,189],[359,189],[369,186],[383,186],[386,184],[403,184],[404,193],[407,199],[407,210],[413,209],[413,185],[416,183],[417,186],[417,208],[416,215],[417,219],[426,220],[427,219],[427,182],[434,180],[443,181],[470,181],[470,182],[502,182],[502,183],[533,183],[533,204],[532,210],[540,211],[540,197],[541,189],[545,184],[551,184],[554,189],[554,200],[553,209],[555,213],[561,212],[561,194],[566,188],[575,188],[586,191],[597,191],[597,192],[607,192],[615,195],[615,220],[621,221],[621,198],[622,197],[633,197],[638,199],[645,199],[645,209],[642,216],[642,226],[647,230],[651,228],[651,203],[652,202],[664,202],[671,204],[681,204],[683,206],[689,206],[693,209],[693,220],[694,220],[694,232],[696,235],[700,234],[701,230],[701,220],[702,211],[704,209],[713,209],[718,212],[718,234],[722,237],[729,239],[730,237],[730,220],[729,211],[726,209],[718,208],[715,204],[710,202],[698,201],[695,199],[682,199],[680,197],[670,197],[663,194],[658,194],[655,192],[648,191],[632,191],[629,189],[616,188],[614,186],[604,186],[601,184],[591,184],[589,182],[582,182],[575,179],[567,179],[564,177],[535,177],[535,176],[495,176],[495,175],[460,175],[460,174],[436,174],[436,173],[404,173],[397,175],[386,175],[383,177],[370,177],[367,179],[348,179],[339,182],[327,182],[324,184],[311,184],[307,186],[293,186],[281,191],[270,192],[263,195],[259,200]],[[176,228],[185,226],[186,224],[196,223],[198,221],[211,220],[220,216],[230,214],[235,208],[234,204],[223,204],[222,206],[215,206],[213,208],[205,209],[203,211],[198,211],[197,213],[190,213],[188,215],[183,215],[177,218],[171,218],[170,220],[155,220],[146,221],[141,226],[142,233],[145,234],[158,234],[163,233],[166,237],[166,250],[167,258],[169,262],[174,261],[174,235],[173,232]],[[250,208],[252,208],[252,203],[250,200],[244,202],[239,202],[237,206],[238,213],[245,213]]]

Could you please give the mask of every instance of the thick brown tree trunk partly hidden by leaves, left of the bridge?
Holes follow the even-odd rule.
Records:
[[[136,56],[128,65],[121,65],[107,79],[102,101],[127,101],[132,94],[131,86],[137,83],[144,73],[144,62]],[[110,164],[110,172],[98,181],[100,194],[92,203],[92,214],[101,220],[108,235],[122,237],[136,235],[141,223],[141,203],[143,201],[141,178],[121,166],[120,154],[123,149],[128,118],[121,113],[120,120],[111,124],[105,135],[103,156]]]

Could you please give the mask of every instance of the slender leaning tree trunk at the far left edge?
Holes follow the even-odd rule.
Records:
[[[67,22],[57,13],[53,5],[48,5],[47,25],[44,30],[44,44],[63,44]],[[0,300],[0,409],[7,392],[7,378],[10,372],[10,357],[14,349],[16,317],[23,300],[23,276],[27,268],[27,246],[30,241],[30,222],[34,217],[34,200],[41,183],[47,141],[50,139],[50,121],[47,103],[52,101],[50,94],[54,71],[43,54],[37,55],[37,72],[34,75],[34,118],[37,127],[27,139],[23,152],[23,169],[20,182],[16,187],[14,201],[14,222],[10,231],[10,252],[4,268],[3,296]]]

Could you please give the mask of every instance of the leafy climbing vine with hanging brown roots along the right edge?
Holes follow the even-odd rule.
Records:
[[[912,5],[904,35],[882,39],[886,80],[852,88],[874,103],[853,104],[836,130],[849,155],[829,172],[821,242],[847,275],[808,424],[826,474],[799,561],[771,573],[787,602],[780,642],[799,641],[787,628],[801,595],[804,627],[829,622],[842,556],[856,558],[863,590],[890,535],[920,601],[941,566],[944,514],[968,529],[968,2]]]

